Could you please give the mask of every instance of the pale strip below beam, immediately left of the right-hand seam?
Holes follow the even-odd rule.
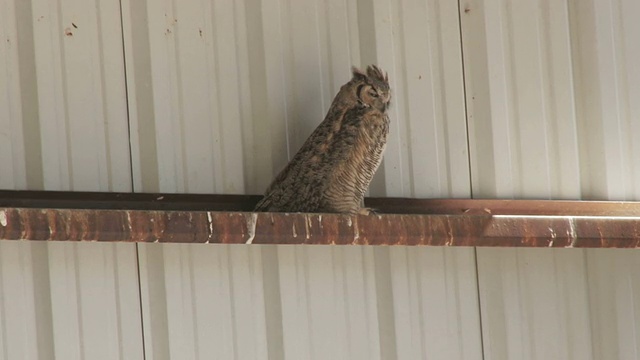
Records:
[[[450,250],[390,249],[398,359],[482,358],[474,252]]]

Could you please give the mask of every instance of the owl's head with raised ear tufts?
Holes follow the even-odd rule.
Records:
[[[389,77],[387,73],[376,65],[369,65],[364,72],[353,67],[353,88],[358,101],[364,105],[371,106],[386,112],[391,101],[391,89],[389,88]]]

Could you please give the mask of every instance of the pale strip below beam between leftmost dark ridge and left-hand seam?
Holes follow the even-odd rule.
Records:
[[[142,354],[133,244],[50,244],[56,357]],[[55,281],[54,281],[55,280]]]

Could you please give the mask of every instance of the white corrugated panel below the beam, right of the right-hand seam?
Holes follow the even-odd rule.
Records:
[[[478,248],[487,359],[637,359],[640,253]]]

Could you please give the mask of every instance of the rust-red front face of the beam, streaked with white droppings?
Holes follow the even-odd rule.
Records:
[[[0,239],[637,248],[640,217],[0,208]]]

